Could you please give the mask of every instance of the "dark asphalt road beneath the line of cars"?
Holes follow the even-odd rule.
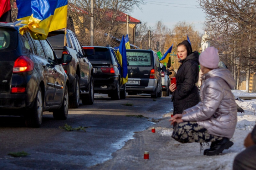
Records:
[[[134,105],[122,105],[126,103]],[[66,121],[56,121],[52,113],[44,112],[41,128],[26,128],[21,117],[0,117],[0,169],[86,169],[103,163],[133,139],[134,132],[152,126],[172,108],[170,96],[154,101],[149,95],[136,95],[113,101],[96,94],[93,105],[70,109]],[[59,128],[65,124],[91,128],[68,132]],[[7,155],[21,151],[30,155]]]

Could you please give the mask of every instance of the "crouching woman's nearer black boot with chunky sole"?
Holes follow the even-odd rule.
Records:
[[[213,144],[213,148],[206,151],[205,155],[219,155],[224,149],[229,149],[234,143],[228,138],[222,138]]]

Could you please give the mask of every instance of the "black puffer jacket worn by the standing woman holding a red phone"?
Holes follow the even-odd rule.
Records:
[[[199,53],[191,53],[185,60],[181,60],[181,65],[176,73],[177,89],[172,95],[174,106],[173,114],[181,114],[185,109],[195,106],[200,100],[198,87],[199,76]]]

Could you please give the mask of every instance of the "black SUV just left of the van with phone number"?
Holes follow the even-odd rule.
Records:
[[[85,52],[94,49],[88,57],[93,65],[94,93],[108,94],[113,100],[126,98],[126,84],[122,84],[122,67],[112,47],[83,46]]]

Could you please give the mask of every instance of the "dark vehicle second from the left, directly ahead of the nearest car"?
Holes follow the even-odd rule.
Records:
[[[58,58],[62,54],[70,54],[72,61],[63,63],[62,66],[68,75],[69,81],[69,107],[77,108],[80,99],[83,105],[92,105],[94,102],[94,83],[92,64],[87,59],[88,55],[82,50],[75,33],[67,29],[66,44],[64,46],[65,30],[52,31],[48,34],[48,41],[51,43]]]

